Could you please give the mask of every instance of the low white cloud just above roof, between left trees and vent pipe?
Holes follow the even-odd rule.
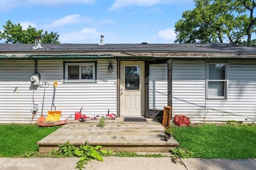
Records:
[[[62,43],[100,43],[100,35],[101,33],[94,28],[83,28],[80,31],[62,34],[59,40]]]

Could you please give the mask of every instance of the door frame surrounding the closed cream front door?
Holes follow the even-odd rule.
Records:
[[[124,59],[117,59],[117,117],[120,117],[122,115],[120,115],[120,72],[121,72],[121,61],[127,61],[127,62],[131,62],[131,61],[141,61],[141,62],[144,62],[144,70],[140,70],[141,72],[144,72],[144,77],[145,77],[145,67],[146,67],[146,61],[144,60],[124,60]],[[145,79],[144,79],[145,80]],[[145,81],[143,81],[144,84],[145,84]],[[141,84],[141,86],[144,86],[144,84]],[[144,103],[145,103],[145,86],[144,86],[144,91],[143,93],[144,95],[141,95],[141,98],[144,98]],[[142,108],[143,107],[143,108]],[[141,104],[141,111],[142,109],[144,110],[144,116],[146,115],[146,111],[145,111],[145,105],[142,105]]]

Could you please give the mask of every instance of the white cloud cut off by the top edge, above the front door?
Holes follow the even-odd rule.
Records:
[[[116,10],[126,6],[152,6],[162,2],[162,0],[115,0],[114,4],[109,8]]]

